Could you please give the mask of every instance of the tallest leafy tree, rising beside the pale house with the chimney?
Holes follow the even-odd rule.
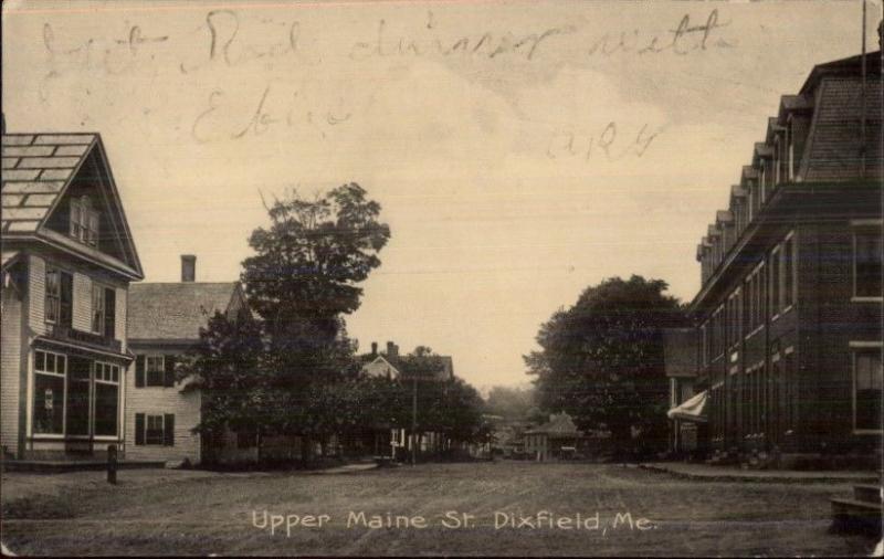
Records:
[[[274,429],[312,435],[329,429],[312,405],[333,398],[320,386],[358,371],[343,315],[359,308],[356,284],[380,265],[390,229],[378,219],[380,204],[352,182],[312,200],[292,192],[267,213],[270,226],[249,240],[255,254],[243,262],[242,281],[264,321]]]

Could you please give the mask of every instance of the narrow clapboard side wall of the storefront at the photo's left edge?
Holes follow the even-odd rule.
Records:
[[[21,389],[22,302],[13,287],[2,289],[3,317],[0,331],[0,446],[19,452],[19,390]]]

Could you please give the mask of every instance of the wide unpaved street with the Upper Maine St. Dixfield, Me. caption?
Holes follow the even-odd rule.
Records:
[[[846,484],[519,462],[145,482],[160,474],[4,498],[3,542],[25,555],[203,556],[824,556],[873,545],[828,532],[829,498],[848,495]]]

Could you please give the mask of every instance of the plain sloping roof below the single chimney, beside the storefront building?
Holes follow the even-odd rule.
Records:
[[[242,297],[242,288],[236,282],[133,284],[127,309],[129,341],[197,341],[209,318],[215,312],[228,313],[238,297]]]

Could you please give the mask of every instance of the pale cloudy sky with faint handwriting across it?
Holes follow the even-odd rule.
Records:
[[[881,1],[869,1],[877,50]],[[391,240],[348,331],[520,384],[537,330],[696,244],[859,1],[3,2],[8,131],[102,135],[147,282],[232,281],[262,197],[357,182]]]

